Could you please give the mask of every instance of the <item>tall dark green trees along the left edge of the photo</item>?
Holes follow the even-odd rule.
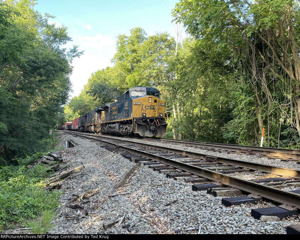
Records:
[[[71,84],[69,63],[82,54],[65,26],[48,23],[35,0],[0,1],[0,166],[44,151],[61,121]]]

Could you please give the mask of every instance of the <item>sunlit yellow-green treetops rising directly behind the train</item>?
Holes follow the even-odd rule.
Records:
[[[168,61],[175,54],[175,41],[167,33],[146,37],[141,28],[131,29],[131,35],[119,35],[113,67],[98,70],[78,97],[64,108],[65,121],[71,121],[113,102],[124,91],[135,86],[159,87],[170,78]]]

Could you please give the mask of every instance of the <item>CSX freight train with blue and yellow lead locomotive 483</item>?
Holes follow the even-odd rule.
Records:
[[[58,125],[58,130],[162,137],[167,132],[164,112],[165,102],[156,88],[134,87],[115,102]]]

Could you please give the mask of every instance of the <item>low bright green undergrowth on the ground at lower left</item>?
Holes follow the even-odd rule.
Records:
[[[32,161],[38,155],[18,159],[18,162],[28,164],[29,159]],[[24,165],[0,168],[0,231],[11,221],[24,226],[25,219],[35,218],[40,211],[43,216],[48,217],[48,220],[42,223],[43,228],[49,227],[49,216],[53,214],[49,209],[57,206],[58,193],[53,191],[46,194],[41,182],[50,174],[49,168],[43,165],[36,165],[32,169],[27,169]]]

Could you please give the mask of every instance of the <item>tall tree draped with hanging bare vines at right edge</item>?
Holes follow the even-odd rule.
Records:
[[[228,49],[233,89],[241,89],[232,96],[244,106],[244,118],[234,111],[235,139],[257,144],[265,127],[267,144],[280,146],[282,130],[300,134],[298,1],[180,1],[174,14],[197,39]]]

